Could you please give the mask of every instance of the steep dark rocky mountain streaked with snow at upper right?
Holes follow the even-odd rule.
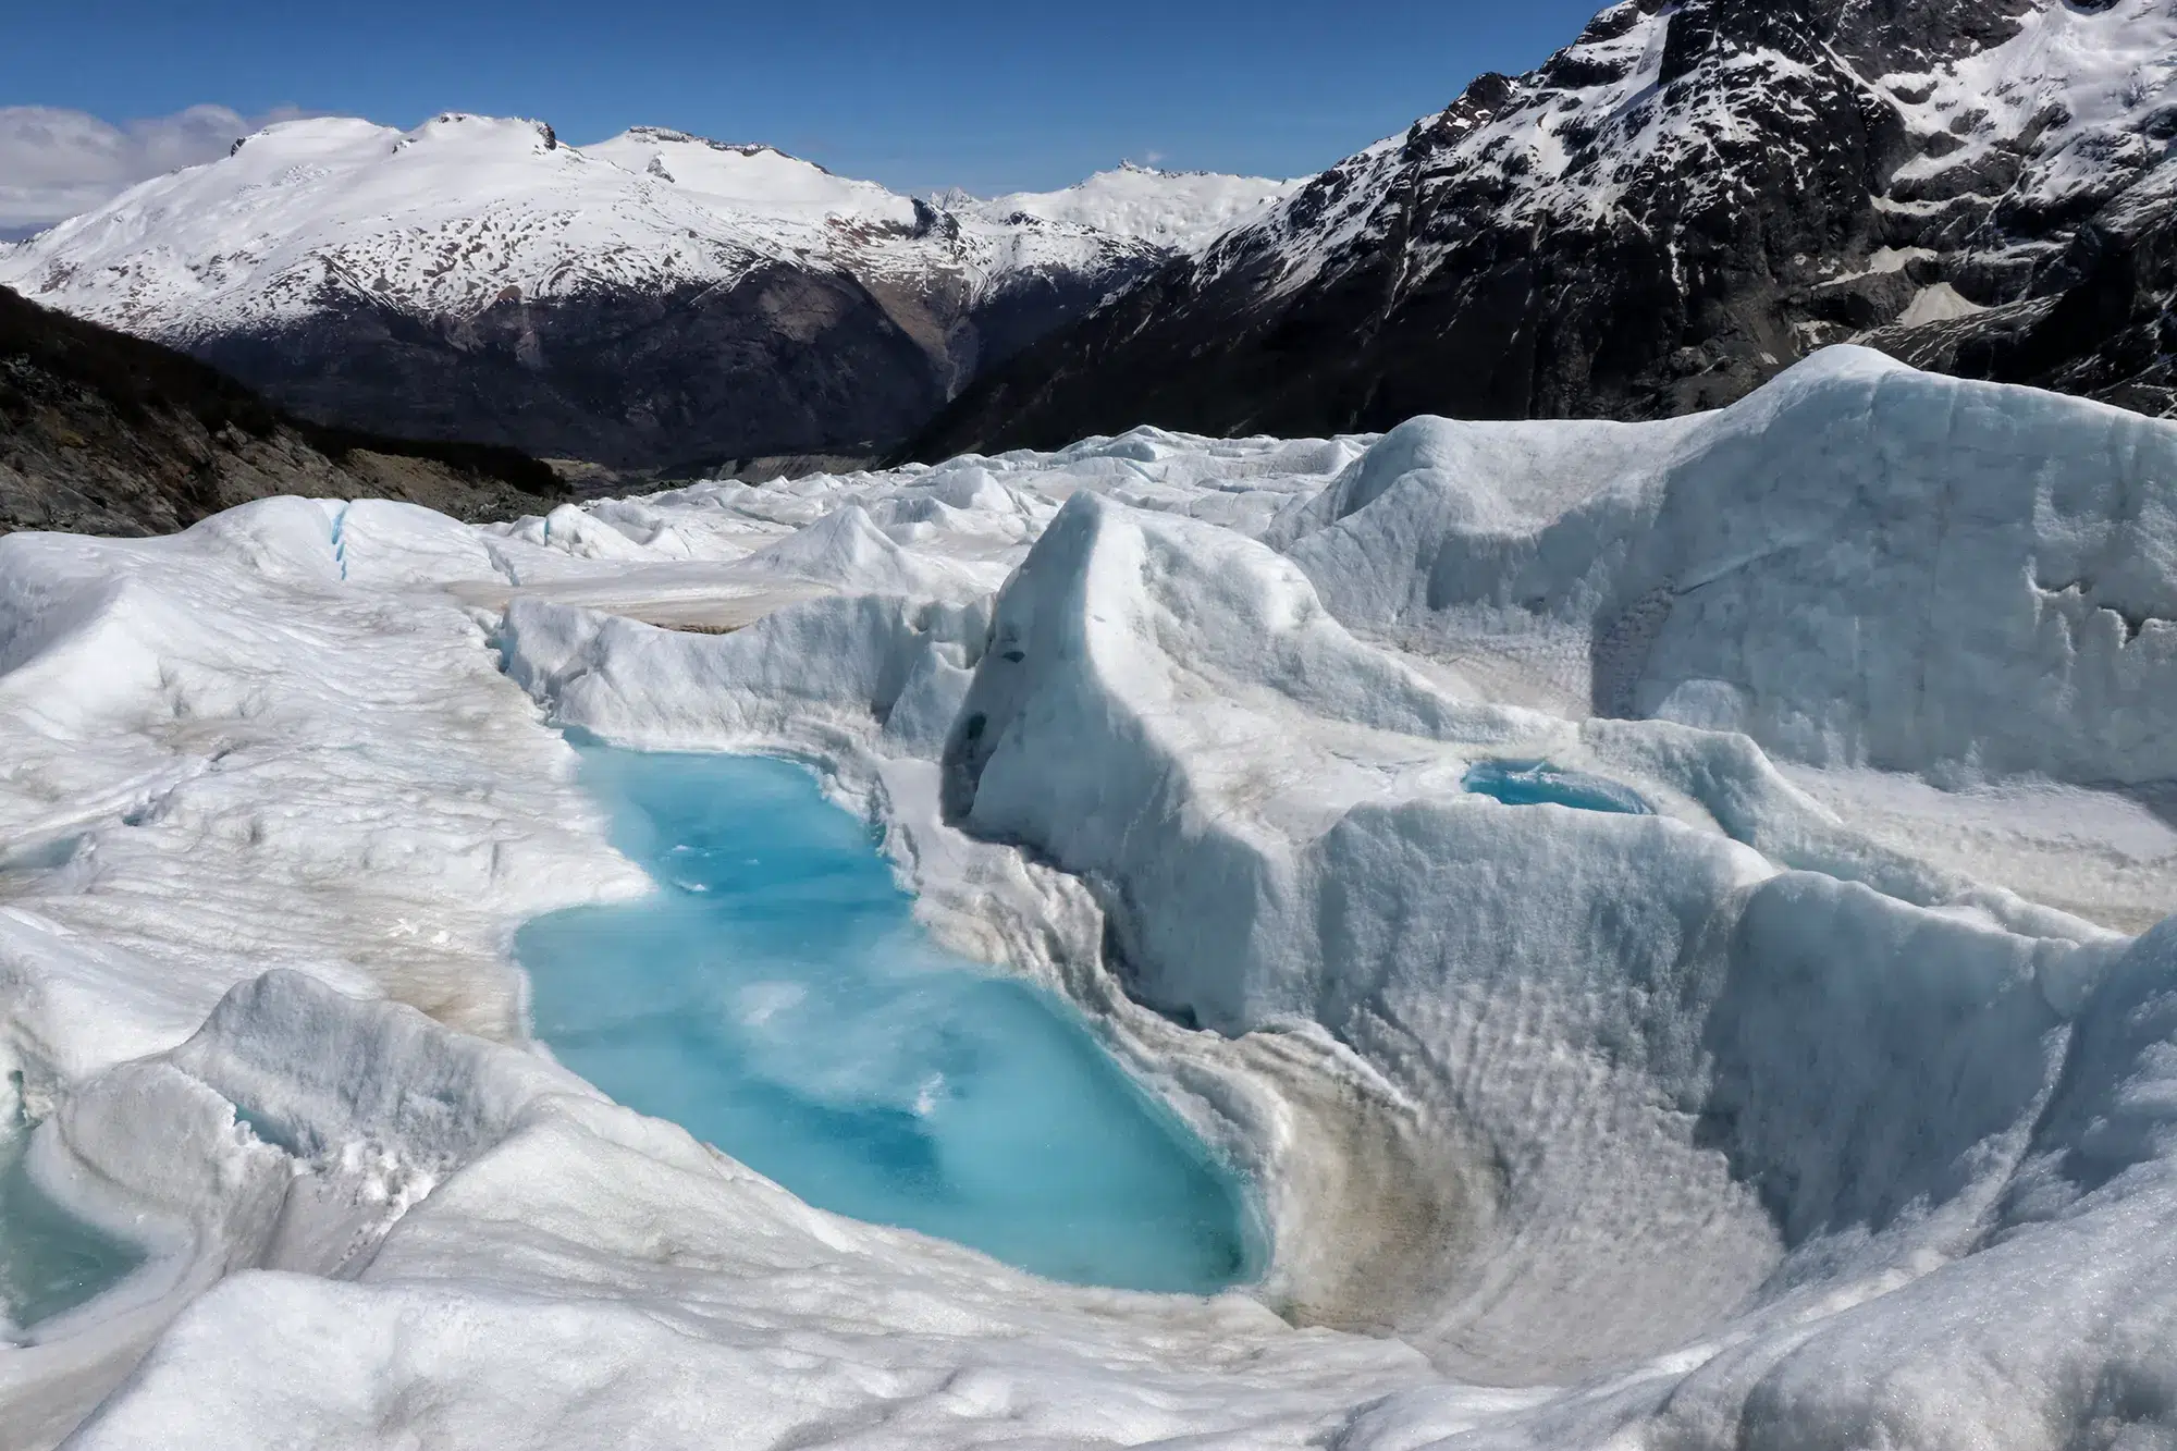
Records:
[[[2170,412],[2173,81],[2173,0],[1624,0],[923,447],[1674,414],[1846,338]]]

